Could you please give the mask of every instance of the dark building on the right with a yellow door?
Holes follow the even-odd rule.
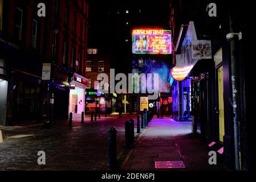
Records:
[[[217,6],[217,16],[212,16],[209,6]],[[212,43],[212,59],[199,60],[190,71],[191,97],[190,115],[193,116],[193,133],[210,144],[218,159],[231,169],[250,169],[252,155],[248,131],[249,112],[246,104],[250,102],[245,91],[249,76],[246,74],[249,51],[245,45],[249,43],[247,28],[249,26],[246,3],[236,4],[231,1],[170,1],[170,27],[173,33],[173,64],[176,55],[182,53],[185,40],[192,23],[198,40],[210,40]],[[239,16],[237,13],[239,12]],[[242,39],[234,36],[227,40],[229,33],[242,32]],[[192,40],[194,40],[192,38]],[[188,44],[191,47],[191,43]],[[237,65],[237,69],[234,68]],[[237,81],[234,92],[232,85]],[[174,82],[180,89],[177,105],[182,107],[183,81]],[[178,85],[178,86],[177,86]],[[237,94],[234,104],[233,94]],[[246,103],[246,104],[245,104]],[[174,106],[173,106],[174,107]],[[237,110],[236,110],[237,108]],[[178,108],[182,110],[182,108]],[[182,114],[182,113],[181,113]],[[178,118],[182,118],[180,113]],[[236,124],[236,125],[235,125]],[[237,126],[237,128],[236,128]],[[236,131],[237,130],[237,131]],[[212,143],[214,142],[214,143]],[[249,154],[249,155],[248,155]]]

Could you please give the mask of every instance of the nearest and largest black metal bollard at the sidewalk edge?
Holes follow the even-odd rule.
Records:
[[[108,170],[116,169],[116,132],[114,127],[108,130]]]

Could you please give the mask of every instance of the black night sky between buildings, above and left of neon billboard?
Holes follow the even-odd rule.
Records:
[[[112,68],[127,72],[131,68],[132,39],[135,27],[169,27],[169,1],[91,1],[88,48],[112,55]],[[129,10],[126,14],[125,10]],[[119,12],[119,14],[117,13]],[[129,22],[127,26],[125,22]],[[125,39],[129,40],[125,42]],[[124,67],[124,65],[126,65]]]

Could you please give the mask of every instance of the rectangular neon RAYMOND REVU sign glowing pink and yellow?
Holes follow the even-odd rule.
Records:
[[[172,53],[170,30],[133,30],[132,53]]]

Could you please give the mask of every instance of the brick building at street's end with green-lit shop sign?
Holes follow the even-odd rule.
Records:
[[[110,69],[111,69],[111,55],[102,55],[96,48],[89,48],[86,64],[86,78],[89,79],[86,88],[86,110],[87,113],[97,112],[104,114],[111,114],[116,111],[116,93],[110,93]],[[103,77],[97,78],[100,73],[105,73],[108,80]],[[101,85],[102,84],[102,85]],[[100,88],[99,88],[100,87]],[[103,92],[98,92],[102,89]]]

